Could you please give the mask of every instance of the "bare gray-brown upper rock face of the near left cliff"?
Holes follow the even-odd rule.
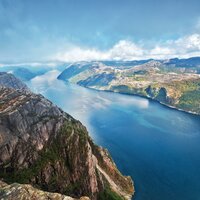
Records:
[[[10,88],[0,88],[0,94],[0,164],[11,159],[15,168],[28,167],[37,156],[26,154],[41,150],[69,117],[40,95]]]

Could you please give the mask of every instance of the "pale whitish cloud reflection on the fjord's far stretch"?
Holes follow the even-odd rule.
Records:
[[[98,109],[107,109],[109,106],[117,106],[119,104],[121,106],[135,106],[140,109],[148,108],[149,101],[147,99],[127,98],[125,95],[99,92],[64,83],[56,79],[59,74],[59,71],[52,70],[33,78],[27,84],[32,91],[48,97],[74,118],[84,122],[84,124],[89,125],[87,118],[91,112]]]

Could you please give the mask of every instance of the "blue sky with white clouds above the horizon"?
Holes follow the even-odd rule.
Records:
[[[0,0],[0,62],[200,56],[199,0]]]

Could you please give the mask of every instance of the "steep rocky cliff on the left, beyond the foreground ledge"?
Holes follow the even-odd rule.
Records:
[[[0,76],[4,182],[31,184],[74,198],[131,199],[131,178],[121,175],[108,151],[94,144],[79,121],[42,95],[24,89],[18,79],[10,79],[14,79],[11,74]]]

